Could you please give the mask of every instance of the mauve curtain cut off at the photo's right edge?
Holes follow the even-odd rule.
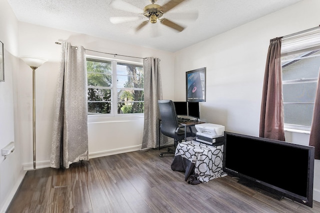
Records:
[[[316,86],[309,146],[314,147],[314,159],[320,160],[320,71]]]

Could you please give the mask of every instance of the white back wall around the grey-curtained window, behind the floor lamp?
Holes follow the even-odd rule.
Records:
[[[53,121],[53,101],[55,96],[57,71],[59,69],[61,46],[55,41],[69,41],[72,45],[82,45],[86,49],[129,55],[135,57],[158,57],[161,59],[162,81],[165,98],[173,98],[173,53],[114,42],[75,32],[53,29],[24,22],[19,23],[19,54],[48,58],[36,70],[36,158],[38,168],[47,167],[50,160],[51,129]],[[114,58],[113,55],[86,51],[89,55]],[[117,59],[142,59],[116,56]],[[25,150],[22,154],[24,169],[32,162],[32,75],[31,69],[20,60],[18,78],[18,114],[20,138]],[[142,142],[143,116],[105,118],[88,117],[89,157],[139,150]]]

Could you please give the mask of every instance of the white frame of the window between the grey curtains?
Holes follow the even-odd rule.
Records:
[[[117,73],[116,73],[116,65],[117,62],[120,63],[128,63],[128,64],[135,64],[135,65],[140,65],[143,66],[142,62],[136,62],[136,61],[128,61],[128,60],[121,60],[121,59],[114,59],[114,58],[107,58],[107,57],[100,57],[100,56],[94,56],[94,55],[86,55],[86,59],[98,59],[98,60],[105,60],[105,61],[111,61],[111,87],[103,87],[103,89],[105,88],[110,88],[111,89],[111,113],[101,113],[101,114],[87,114],[89,119],[93,119],[96,118],[97,120],[102,119],[101,121],[103,121],[103,118],[120,118],[120,117],[143,117],[144,113],[126,113],[126,114],[118,114],[117,113],[117,90],[118,89],[130,89],[130,88],[122,88],[122,87],[117,87]],[[115,82],[115,83],[114,83]],[[137,90],[143,90],[140,88],[134,88]],[[114,104],[115,103],[115,104]],[[93,120],[96,120],[93,119]]]

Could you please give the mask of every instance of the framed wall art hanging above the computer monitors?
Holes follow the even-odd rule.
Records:
[[[205,101],[205,67],[185,72],[186,101]]]

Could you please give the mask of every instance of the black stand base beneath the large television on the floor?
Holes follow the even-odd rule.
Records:
[[[284,195],[274,189],[271,189],[271,188],[267,188],[267,187],[264,187],[258,183],[255,183],[253,181],[247,181],[247,180],[243,180],[243,179],[239,179],[238,182],[239,184],[243,185],[243,186],[246,186],[250,189],[253,189],[259,193],[262,193],[266,196],[269,196],[275,200],[278,200],[280,201]]]

